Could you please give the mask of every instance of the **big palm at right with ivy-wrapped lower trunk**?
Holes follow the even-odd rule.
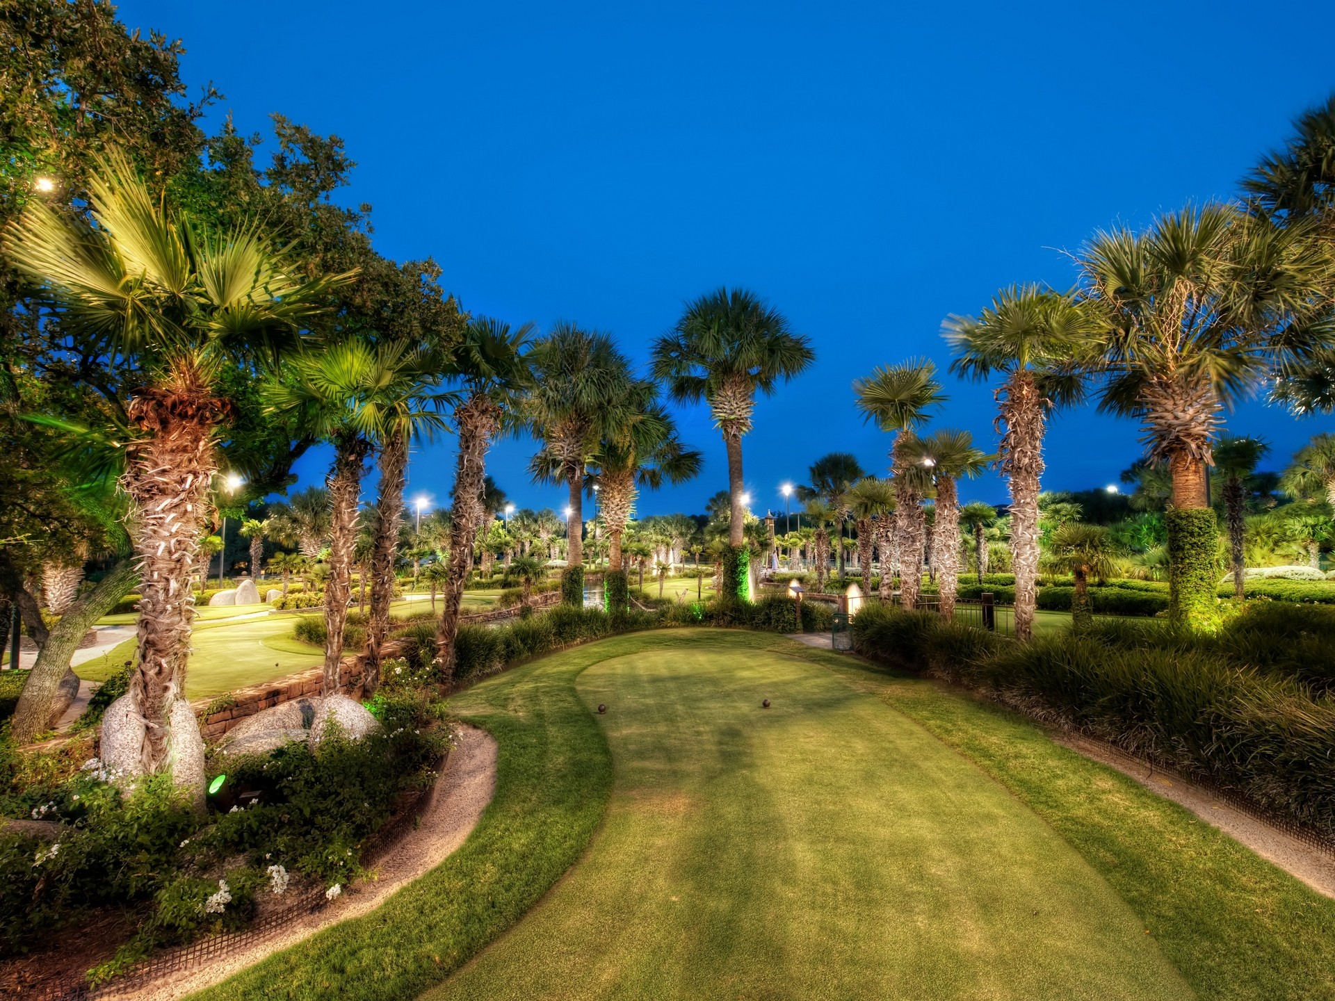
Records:
[[[1307,324],[1328,262],[1310,226],[1230,206],[1187,208],[1148,232],[1099,234],[1083,251],[1085,296],[1107,326],[1101,406],[1144,427],[1147,458],[1172,475],[1169,618],[1216,618],[1218,522],[1206,467],[1223,411],[1323,346]]]

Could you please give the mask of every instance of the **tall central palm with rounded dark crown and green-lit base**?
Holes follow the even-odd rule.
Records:
[[[672,332],[654,342],[654,378],[678,403],[706,402],[724,436],[733,549],[744,543],[742,438],[752,428],[756,394],[773,395],[814,360],[810,342],[745,288],[718,288],[688,303]],[[729,594],[736,583],[726,586]]]

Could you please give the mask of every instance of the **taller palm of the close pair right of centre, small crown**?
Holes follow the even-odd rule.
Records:
[[[921,464],[908,456],[917,439],[917,428],[945,403],[936,366],[926,359],[910,358],[896,366],[880,366],[866,379],[853,382],[857,408],[882,431],[894,432],[890,448],[890,472],[894,478],[894,547],[900,559],[900,601],[904,607],[917,605],[922,586],[925,523],[922,499],[930,480]],[[882,581],[885,573],[882,570]]]

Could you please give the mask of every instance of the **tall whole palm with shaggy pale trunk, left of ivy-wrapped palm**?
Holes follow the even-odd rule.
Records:
[[[975,379],[1005,376],[997,391],[999,467],[1011,487],[1015,633],[1033,633],[1039,578],[1039,478],[1048,415],[1076,403],[1084,383],[1072,363],[1097,346],[1092,311],[1069,294],[1012,286],[977,318],[951,316],[943,332],[956,352],[951,371]]]

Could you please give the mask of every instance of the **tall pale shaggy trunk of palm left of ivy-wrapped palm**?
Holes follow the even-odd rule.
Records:
[[[1001,402],[1001,470],[1011,484],[1011,551],[1015,562],[1015,635],[1033,635],[1039,603],[1039,478],[1043,475],[1044,400],[1033,375],[1016,371]]]

